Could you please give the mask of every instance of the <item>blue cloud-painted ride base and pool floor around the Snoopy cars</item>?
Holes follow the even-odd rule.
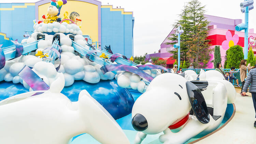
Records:
[[[117,119],[117,123],[124,130],[128,139],[131,143],[136,135],[136,131],[131,125],[131,109],[134,101],[141,95],[140,92],[136,90],[123,89],[118,87],[115,80],[100,81],[97,84],[90,84],[85,81],[75,81],[72,86],[65,87],[61,93],[66,95],[71,101],[77,101],[79,92],[86,89],[92,97],[94,97],[106,110],[108,110],[113,117]],[[12,82],[0,82],[0,101],[11,96],[28,92],[27,89],[23,87],[22,84],[13,84]],[[232,115],[233,105],[228,104],[225,117],[222,121],[221,127]],[[122,118],[120,118],[122,117]],[[143,140],[142,144],[161,144],[158,141],[160,134],[147,135]],[[187,143],[192,142],[196,139],[190,139]],[[100,144],[93,137],[88,134],[82,134],[74,137],[70,140],[70,144]]]

